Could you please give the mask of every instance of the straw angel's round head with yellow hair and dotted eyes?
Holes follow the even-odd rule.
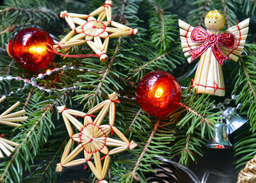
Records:
[[[209,11],[206,14],[205,25],[209,30],[221,30],[225,25],[225,17],[218,10]]]

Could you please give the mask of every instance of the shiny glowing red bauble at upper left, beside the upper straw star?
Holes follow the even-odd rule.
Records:
[[[46,31],[30,27],[21,30],[10,41],[8,53],[24,69],[40,70],[53,60],[54,53],[49,44],[53,45],[53,38]]]

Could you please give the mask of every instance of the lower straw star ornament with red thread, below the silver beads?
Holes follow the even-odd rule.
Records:
[[[105,174],[109,167],[110,155],[123,152],[127,149],[134,149],[137,146],[133,141],[129,143],[125,135],[114,127],[115,102],[119,101],[114,92],[112,95],[109,95],[108,100],[96,105],[96,107],[88,111],[87,114],[72,109],[66,109],[66,106],[58,107],[59,112],[63,114],[63,120],[70,135],[70,140],[66,145],[60,163],[57,164],[57,172],[62,172],[63,167],[81,165],[87,162],[93,174],[99,179],[99,182],[107,182],[103,179],[105,178]],[[99,110],[101,111],[96,119],[92,120],[92,114]],[[109,124],[102,124],[102,120],[108,111]],[[81,124],[74,116],[84,117],[83,124]],[[79,133],[73,134],[70,122],[77,130],[79,130]],[[112,135],[113,132],[115,132],[121,140],[110,138],[109,136]],[[78,145],[72,152],[70,152],[73,142],[76,142]],[[109,146],[115,146],[115,148],[109,150]],[[84,152],[84,159],[73,160],[80,152]],[[101,157],[100,152],[105,156]],[[91,162],[92,156],[94,158],[95,165]],[[102,166],[103,159],[104,163]]]

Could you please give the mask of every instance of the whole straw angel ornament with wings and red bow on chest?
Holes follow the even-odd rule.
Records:
[[[245,45],[248,34],[249,18],[228,28],[223,33],[225,18],[217,10],[206,14],[203,27],[192,27],[179,20],[180,40],[187,61],[200,56],[199,65],[193,80],[193,87],[197,93],[224,96],[225,84],[222,65],[226,59],[238,60]]]

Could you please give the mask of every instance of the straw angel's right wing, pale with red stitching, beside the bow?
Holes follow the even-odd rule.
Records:
[[[232,33],[235,35],[236,45],[232,49],[222,47],[221,45],[219,45],[219,48],[226,56],[234,61],[238,60],[238,56],[241,56],[241,52],[244,49],[245,40],[249,30],[249,21],[250,18],[247,18],[245,21],[241,21],[239,24],[224,31],[224,33]]]

